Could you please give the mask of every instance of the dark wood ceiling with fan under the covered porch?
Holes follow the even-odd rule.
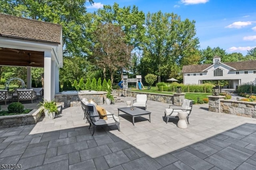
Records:
[[[0,65],[44,67],[44,52],[0,47]]]

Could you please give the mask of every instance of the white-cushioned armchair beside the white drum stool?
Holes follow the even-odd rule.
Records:
[[[192,111],[193,101],[188,100],[188,99],[183,99],[182,106],[180,108],[171,109],[170,108],[171,106],[173,106],[173,105],[170,105],[169,109],[165,109],[165,111],[164,111],[164,118],[167,117],[166,124],[168,123],[170,117],[177,118],[179,111],[187,112],[187,123],[189,124],[188,118]]]

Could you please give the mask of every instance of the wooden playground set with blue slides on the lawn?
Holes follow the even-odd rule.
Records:
[[[123,80],[118,83],[121,89],[128,89],[128,83],[136,83],[136,89],[145,89],[142,84],[141,75],[136,75],[136,79],[128,79],[128,75],[123,76]]]

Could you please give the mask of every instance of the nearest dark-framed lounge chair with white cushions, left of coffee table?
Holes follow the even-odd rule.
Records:
[[[84,115],[90,124],[89,129],[90,129],[91,125],[93,127],[92,135],[94,134],[95,127],[98,127],[98,126],[100,127],[100,126],[116,125],[118,128],[118,131],[120,131],[119,118],[116,115],[106,111],[105,116],[107,117],[107,120],[104,120],[104,119],[100,118],[101,116],[99,115],[95,105],[90,104],[90,103],[86,104],[84,101],[81,101],[81,106],[84,111]]]

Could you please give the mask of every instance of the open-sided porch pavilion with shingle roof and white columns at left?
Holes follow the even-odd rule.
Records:
[[[31,68],[44,68],[44,99],[59,92],[63,67],[62,26],[0,13],[0,66],[26,67],[27,89]]]

